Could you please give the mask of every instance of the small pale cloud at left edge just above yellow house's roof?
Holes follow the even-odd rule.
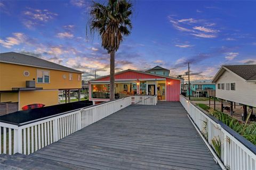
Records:
[[[12,37],[7,37],[5,40],[0,39],[0,44],[5,48],[11,48],[14,45],[19,45],[26,40],[24,33],[15,32]]]

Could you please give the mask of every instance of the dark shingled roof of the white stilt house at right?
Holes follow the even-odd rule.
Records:
[[[256,82],[256,64],[250,65],[222,65],[218,73],[212,79],[216,82],[225,71],[231,71],[246,81]]]

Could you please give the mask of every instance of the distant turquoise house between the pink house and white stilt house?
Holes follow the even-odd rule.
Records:
[[[187,96],[189,90],[187,90]],[[211,82],[193,82],[190,83],[190,96],[209,97],[215,96],[215,83]]]

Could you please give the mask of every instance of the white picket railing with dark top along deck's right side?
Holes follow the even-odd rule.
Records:
[[[256,149],[252,143],[243,139],[238,133],[229,130],[227,126],[224,127],[225,125],[220,125],[221,123],[214,121],[214,118],[201,111],[182,95],[180,95],[180,103],[212,148],[214,148],[213,140],[218,139],[220,141],[220,159],[227,169],[256,169]]]

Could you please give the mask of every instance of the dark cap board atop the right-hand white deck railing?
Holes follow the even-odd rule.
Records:
[[[182,95],[180,95],[182,96]],[[183,97],[183,96],[182,96]],[[185,97],[183,97],[185,98]],[[187,98],[185,98],[186,100],[188,100]],[[211,120],[213,120],[215,123],[218,123],[221,125],[221,128],[224,129],[225,131],[227,131],[232,137],[234,137],[236,140],[238,140],[239,142],[241,142],[247,149],[249,149],[250,151],[253,152],[253,154],[256,154],[256,146],[253,145],[253,143],[251,143],[250,141],[248,141],[247,139],[245,139],[242,135],[240,135],[239,133],[237,133],[236,131],[234,131],[233,129],[229,128],[228,125],[226,125],[225,123],[219,121],[217,118],[215,118],[214,116],[210,115],[208,112],[206,112],[204,109],[202,109],[201,107],[195,105],[194,103],[192,103],[190,100],[188,100],[189,103],[191,103],[192,105],[194,105],[196,108],[198,108],[200,111],[202,111],[206,116],[208,116],[209,118],[211,118]]]

